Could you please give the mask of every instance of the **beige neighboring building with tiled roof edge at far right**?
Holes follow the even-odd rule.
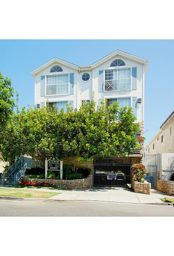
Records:
[[[160,130],[144,147],[144,155],[174,153],[174,111],[160,126]]]

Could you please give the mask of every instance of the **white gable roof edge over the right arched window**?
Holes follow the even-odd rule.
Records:
[[[92,65],[91,65],[91,68],[94,68],[98,65],[100,65],[102,62],[104,61],[107,61],[108,59],[116,56],[116,55],[119,55],[119,56],[122,56],[122,57],[126,57],[128,59],[133,59],[139,63],[142,63],[142,64],[148,64],[148,59],[143,59],[143,58],[140,58],[140,57],[137,57],[135,55],[132,55],[132,54],[129,54],[127,52],[122,52],[120,50],[116,50],[115,52],[112,52],[110,53],[109,55],[105,56],[104,58],[100,59],[99,61],[97,62],[94,62]]]

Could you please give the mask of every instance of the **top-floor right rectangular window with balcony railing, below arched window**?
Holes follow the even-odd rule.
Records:
[[[130,90],[131,69],[108,69],[105,70],[105,91]]]

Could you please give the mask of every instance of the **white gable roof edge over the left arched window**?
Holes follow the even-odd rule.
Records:
[[[35,76],[35,74],[37,74],[39,71],[41,71],[43,68],[46,68],[48,67],[49,65],[55,63],[55,62],[58,62],[59,64],[62,64],[62,65],[65,65],[65,66],[68,66],[68,67],[71,67],[71,68],[74,68],[76,70],[79,70],[79,66],[75,65],[75,64],[72,64],[70,62],[67,62],[67,61],[63,61],[63,59],[58,59],[56,57],[54,57],[53,59],[51,59],[50,61],[47,61],[46,63],[44,63],[42,66],[34,69],[33,71],[31,71],[31,74],[33,76]]]

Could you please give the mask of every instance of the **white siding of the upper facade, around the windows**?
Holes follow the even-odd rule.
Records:
[[[116,59],[120,58],[123,61],[125,61],[126,66],[120,66],[119,68],[131,68],[131,74],[132,74],[132,67],[137,67],[137,89],[136,90],[125,90],[125,91],[117,91],[117,92],[99,92],[98,88],[98,76],[99,76],[99,70],[104,70],[103,75],[105,75],[105,69],[113,69],[113,67],[110,68],[111,62]],[[63,68],[63,72],[60,73],[74,73],[74,94],[69,95],[55,95],[55,96],[41,96],[41,76],[42,75],[54,75],[55,73],[50,73],[50,69],[54,65],[60,65]],[[84,82],[81,79],[81,76],[83,73],[89,73],[90,79],[87,82]],[[42,69],[40,72],[38,72],[35,76],[35,104],[40,104],[41,102],[46,102],[47,98],[49,101],[74,101],[74,108],[80,108],[81,101],[82,100],[91,100],[92,92],[95,92],[95,100],[97,105],[99,104],[99,99],[106,99],[106,98],[124,98],[124,97],[131,97],[131,106],[132,106],[132,97],[137,96],[138,98],[142,99],[141,103],[137,104],[137,122],[143,121],[143,104],[144,104],[144,67],[143,64],[139,64],[139,62],[136,62],[134,60],[128,59],[128,58],[122,58],[121,56],[112,57],[109,60],[103,62],[99,66],[95,67],[93,70],[86,70],[81,71],[80,73],[69,67],[62,64],[59,64],[57,61],[48,67]],[[56,74],[59,74],[56,73]],[[131,79],[132,81],[132,79]]]

